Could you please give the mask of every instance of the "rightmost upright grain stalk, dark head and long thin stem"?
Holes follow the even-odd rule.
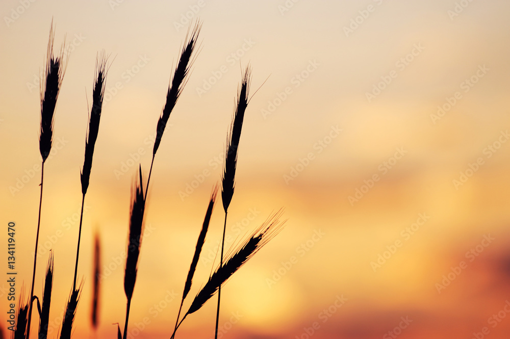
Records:
[[[223,202],[223,210],[225,211],[225,222],[223,224],[223,236],[221,238],[221,254],[220,254],[220,267],[223,266],[223,248],[225,245],[225,230],[226,230],[226,218],[228,213],[228,206],[232,201],[234,195],[236,168],[237,168],[237,155],[239,150],[239,141],[241,139],[241,131],[243,128],[244,113],[248,107],[249,102],[249,90],[251,82],[251,67],[249,64],[246,66],[244,71],[241,86],[238,89],[238,97],[236,103],[236,111],[230,130],[227,134],[227,146],[225,154],[225,164],[223,169],[223,175],[221,178],[221,200]],[[218,306],[216,309],[216,329],[214,338],[218,338],[218,322],[220,317],[220,301],[221,301],[221,285],[218,286]]]

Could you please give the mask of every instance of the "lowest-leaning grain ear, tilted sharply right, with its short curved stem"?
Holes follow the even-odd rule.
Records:
[[[206,284],[203,285],[197,293],[183,319],[175,328],[172,336],[175,335],[175,331],[188,315],[199,310],[217,291],[219,292],[220,287],[228,278],[236,273],[253,255],[255,255],[255,253],[283,229],[285,221],[280,220],[282,215],[283,211],[280,210],[269,216],[260,227],[253,231],[247,239],[236,246],[235,249],[226,256],[225,264],[220,265],[214,273],[211,274]]]

